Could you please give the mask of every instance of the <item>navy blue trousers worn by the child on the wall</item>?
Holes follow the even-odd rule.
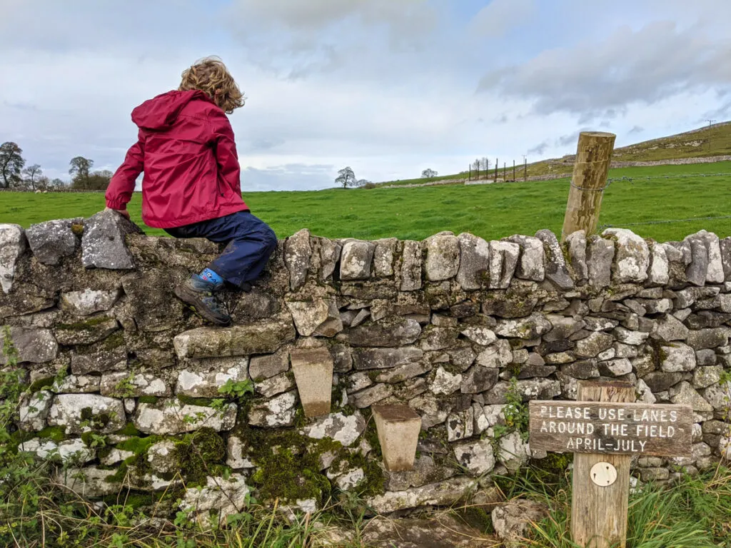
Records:
[[[248,211],[165,229],[165,232],[178,238],[203,237],[227,244],[208,268],[238,287],[259,278],[276,249],[274,231]]]

